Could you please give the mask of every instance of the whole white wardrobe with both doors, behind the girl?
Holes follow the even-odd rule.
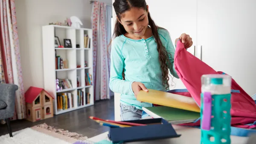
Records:
[[[189,52],[216,71],[231,75],[249,95],[256,93],[256,0],[146,2],[152,19],[170,32],[173,43],[182,33],[190,35]],[[186,88],[179,79],[173,82],[169,81],[175,85],[171,89]],[[116,95],[115,118],[119,119]]]

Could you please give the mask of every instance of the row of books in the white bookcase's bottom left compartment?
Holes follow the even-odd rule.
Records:
[[[57,94],[58,110],[70,109],[74,107],[74,95],[70,92],[62,92]]]

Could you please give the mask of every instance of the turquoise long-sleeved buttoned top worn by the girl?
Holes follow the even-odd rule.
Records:
[[[179,78],[173,64],[175,49],[169,32],[158,29],[158,33],[163,46],[171,54],[168,56],[170,61],[168,68],[175,78]],[[125,80],[122,78],[123,71]],[[137,101],[131,84],[137,81],[143,83],[147,89],[166,91],[162,77],[157,43],[153,36],[133,40],[120,35],[112,41],[109,87],[113,92],[121,94],[120,103],[132,105],[138,109],[151,107],[152,104]]]

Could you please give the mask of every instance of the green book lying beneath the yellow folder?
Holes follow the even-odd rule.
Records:
[[[143,110],[153,118],[163,118],[172,124],[189,123],[200,118],[200,112],[192,112],[166,106],[143,107]]]

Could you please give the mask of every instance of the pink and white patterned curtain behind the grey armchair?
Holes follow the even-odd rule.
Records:
[[[0,0],[0,81],[16,84],[15,114],[12,120],[26,118],[26,104],[20,65],[20,46],[17,34],[14,0]]]

